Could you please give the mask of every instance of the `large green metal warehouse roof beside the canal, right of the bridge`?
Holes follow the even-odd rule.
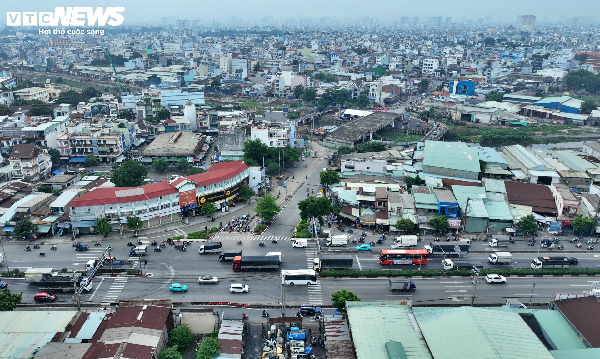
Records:
[[[423,166],[477,172],[479,156],[463,142],[425,141]]]

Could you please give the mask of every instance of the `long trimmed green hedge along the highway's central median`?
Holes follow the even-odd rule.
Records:
[[[414,268],[414,267],[411,267]],[[469,276],[472,273],[470,270],[339,270],[339,271],[322,271],[321,276],[374,276],[374,277],[385,277],[385,276]],[[480,274],[485,276],[486,274],[501,274],[502,276],[523,276],[531,274],[600,274],[600,269],[595,268],[583,268],[583,269],[536,269],[533,271],[532,268],[524,269],[483,269]]]

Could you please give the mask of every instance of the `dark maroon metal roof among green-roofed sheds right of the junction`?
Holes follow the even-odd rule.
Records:
[[[534,212],[556,213],[550,188],[542,184],[504,181],[508,203],[531,206]]]

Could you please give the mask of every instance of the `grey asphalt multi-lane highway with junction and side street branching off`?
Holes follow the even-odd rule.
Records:
[[[224,249],[242,249],[244,255],[264,255],[268,252],[282,252],[282,269],[305,269],[311,268],[311,262],[314,256],[318,254],[320,248],[323,252],[335,253],[339,248],[325,247],[321,242],[320,246],[315,241],[310,241],[307,249],[292,248],[290,235],[293,228],[299,222],[298,202],[306,198],[306,188],[319,189],[319,172],[326,165],[325,149],[315,145],[317,158],[308,157],[305,161],[300,161],[298,167],[292,169],[295,173],[295,179],[289,178],[286,189],[283,187],[275,188],[275,191],[281,190],[281,207],[283,210],[278,215],[274,224],[262,236],[251,234],[237,234],[222,232],[212,241],[222,241]],[[314,151],[314,150],[313,150]],[[304,167],[307,164],[307,167]],[[305,178],[305,175],[308,178]],[[311,193],[312,194],[312,193]],[[254,200],[253,200],[254,202]],[[252,207],[239,206],[235,211],[224,214],[219,220],[227,222],[230,217],[241,216],[242,213],[253,213]],[[153,240],[162,241],[167,237],[190,233],[202,229],[205,225],[215,225],[215,223],[196,223],[183,226],[168,225],[167,231],[164,228],[152,229],[148,232],[153,234],[140,235],[143,244],[148,245]],[[255,223],[252,223],[255,225]],[[335,231],[334,231],[335,232]],[[351,235],[352,236],[352,235]],[[372,232],[367,235],[368,240],[376,240],[379,237]],[[279,243],[271,243],[271,240],[277,238]],[[353,237],[351,237],[352,239]],[[389,236],[388,236],[389,238]],[[54,268],[61,270],[83,269],[89,259],[96,259],[103,252],[103,248],[108,244],[114,247],[112,254],[116,258],[130,259],[128,256],[129,246],[127,242],[131,238],[118,238],[110,241],[102,241],[101,247],[94,247],[94,241],[82,242],[89,244],[88,252],[77,252],[70,246],[71,241],[58,244],[58,250],[50,250],[50,243],[43,244],[42,248],[47,253],[45,257],[37,255],[37,250],[25,252],[22,244],[6,243],[4,246],[7,257],[8,267],[12,270],[19,268],[26,270],[30,267],[35,268]],[[236,241],[241,239],[244,244],[236,246]],[[568,238],[566,238],[568,240]],[[259,247],[259,241],[264,240],[265,247]],[[427,236],[419,242],[419,246],[429,244],[433,237]],[[564,240],[563,240],[564,241]],[[391,241],[386,241],[385,245],[376,245],[372,253],[353,252],[354,269],[383,269],[383,270],[414,270],[413,266],[382,266],[377,261],[377,253],[381,249],[389,248]],[[442,244],[447,242],[442,241]],[[508,249],[491,249],[487,242],[473,242],[470,250],[481,251],[484,253],[470,253],[461,259],[472,259],[482,262],[486,268],[496,268],[496,266],[487,264],[489,252],[506,251],[520,252],[529,251],[529,253],[515,253],[511,264],[498,266],[498,268],[529,268],[533,258],[540,255],[567,255],[574,256],[579,260],[575,268],[598,268],[600,267],[600,255],[590,253],[585,249],[576,249],[574,244],[564,243],[565,253],[559,251],[548,252],[539,247],[527,246],[526,241],[517,241],[511,244]],[[350,244],[347,249],[352,251],[353,245]],[[136,267],[143,273],[151,273],[149,277],[102,277],[98,276],[93,280],[94,289],[91,292],[83,294],[82,303],[116,303],[121,299],[133,298],[173,298],[175,302],[184,303],[206,303],[206,302],[231,302],[231,303],[250,303],[250,304],[271,304],[278,305],[281,301],[281,284],[278,273],[236,273],[232,270],[231,262],[220,262],[216,255],[199,255],[199,244],[194,243],[188,247],[188,250],[181,252],[175,250],[172,246],[167,246],[161,252],[154,252],[152,249],[148,255],[137,261]],[[427,265],[422,269],[440,269],[442,257],[431,258]],[[147,264],[145,261],[147,261]],[[6,263],[4,264],[6,265]],[[4,268],[2,268],[5,270]],[[197,278],[200,275],[217,276],[220,283],[216,285],[198,285]],[[600,281],[598,279],[597,281]],[[8,279],[9,288],[14,292],[23,291],[23,303],[32,303],[33,294],[37,287],[25,283],[24,279]],[[188,291],[185,293],[169,292],[171,283],[184,283],[188,285]],[[329,304],[331,294],[339,289],[348,289],[355,292],[362,300],[395,300],[406,299],[415,301],[415,303],[470,303],[470,295],[473,293],[473,286],[468,283],[468,279],[415,279],[417,290],[415,292],[390,292],[387,287],[386,279],[346,279],[346,278],[323,278],[315,286],[286,286],[286,303],[290,306],[311,303],[311,304]],[[506,285],[491,285],[482,282],[478,285],[475,303],[503,303],[505,298],[520,298],[523,303],[529,303],[529,298],[533,298],[533,303],[547,302],[554,292],[581,293],[589,287],[592,282],[596,282],[595,277],[536,277],[536,278],[512,278],[508,279]],[[230,283],[245,283],[250,286],[250,292],[244,294],[230,293],[228,291]],[[535,288],[533,284],[535,283]],[[532,295],[533,289],[533,295]],[[59,294],[59,303],[73,303],[73,294]],[[463,298],[469,297],[469,298]]]

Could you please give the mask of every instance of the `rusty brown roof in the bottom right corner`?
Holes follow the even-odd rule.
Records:
[[[554,306],[593,348],[600,348],[600,303],[596,297],[555,300]]]

